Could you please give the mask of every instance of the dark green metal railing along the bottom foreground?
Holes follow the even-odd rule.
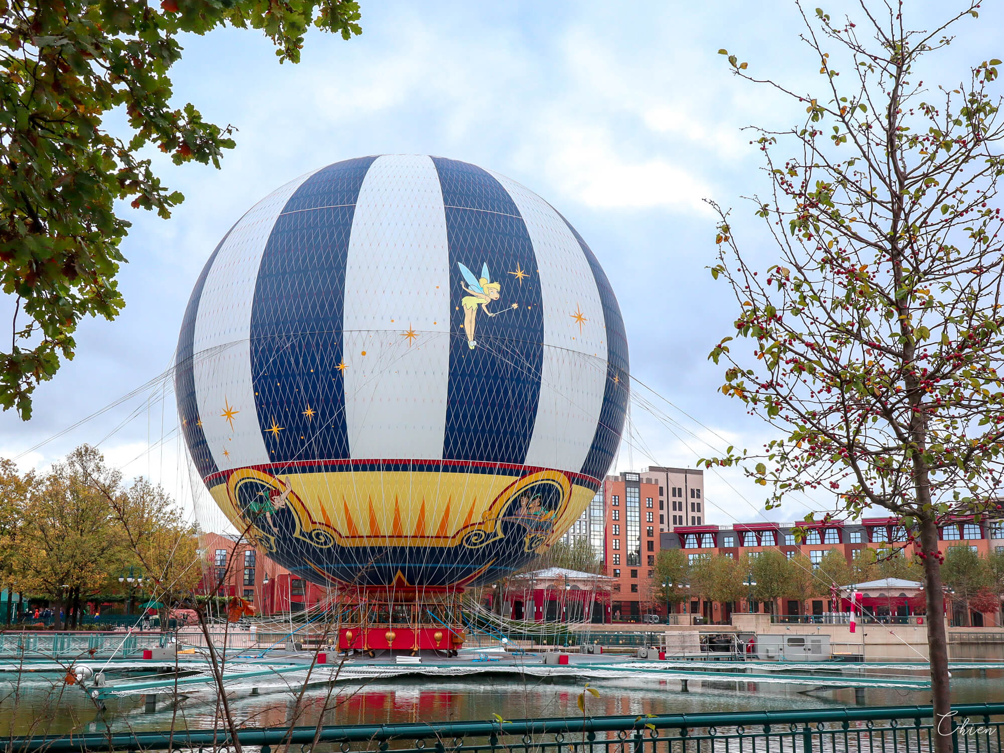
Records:
[[[1004,704],[956,706],[941,724],[930,706],[811,709],[756,714],[686,714],[643,717],[578,717],[450,724],[359,725],[242,729],[242,746],[278,753],[286,744],[307,753],[315,741],[326,750],[402,753],[844,753],[931,751],[934,737],[952,737],[957,751],[999,753]],[[191,748],[219,750],[232,744],[222,730],[14,737],[0,741],[7,753],[82,753]],[[332,747],[332,744],[338,747]]]

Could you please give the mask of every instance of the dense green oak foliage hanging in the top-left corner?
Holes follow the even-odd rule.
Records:
[[[308,26],[348,39],[360,32],[358,18],[353,0],[0,3],[0,281],[14,299],[10,350],[0,352],[4,410],[30,418],[34,388],[60,357],[73,357],[79,319],[121,309],[115,274],[130,223],[114,202],[167,218],[183,200],[143,149],[156,146],[176,165],[219,167],[234,147],[230,126],[171,104],[179,36],[251,26],[280,62],[297,62]],[[119,107],[126,141],[103,128]]]

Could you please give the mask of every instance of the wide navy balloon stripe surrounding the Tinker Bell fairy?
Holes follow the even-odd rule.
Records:
[[[543,309],[537,262],[512,198],[481,168],[432,158],[439,173],[450,254],[450,378],[443,458],[521,464],[533,435],[543,360]],[[477,309],[471,349],[464,332],[468,295],[458,264],[481,276],[488,265],[501,297],[489,317]],[[527,270],[520,284],[509,272]],[[470,287],[468,285],[468,287]],[[518,308],[511,309],[513,303]]]

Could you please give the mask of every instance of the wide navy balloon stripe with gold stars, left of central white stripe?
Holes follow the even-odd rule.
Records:
[[[265,245],[251,310],[251,374],[272,462],[348,457],[338,369],[345,263],[359,188],[375,159],[329,165],[304,181]]]

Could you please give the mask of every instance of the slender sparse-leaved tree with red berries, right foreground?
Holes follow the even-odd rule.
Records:
[[[722,392],[778,434],[762,453],[730,448],[706,463],[742,465],[772,487],[768,507],[826,490],[834,512],[851,518],[889,510],[924,562],[935,614],[938,525],[996,507],[1004,450],[1004,257],[993,206],[1004,132],[991,93],[1001,61],[979,62],[958,82],[941,73],[944,86],[916,70],[977,8],[924,32],[911,30],[902,2],[876,12],[862,3],[856,23],[803,14],[802,38],[819,61],[815,91],[754,77],[721,50],[736,75],[806,114],[754,137],[771,180],[768,196],[753,197],[770,261],[747,259],[715,205],[711,272],[730,285],[732,334],[749,346],[724,337],[710,357],[726,365]],[[780,148],[788,156],[775,158]],[[941,717],[950,712],[942,620],[929,620],[928,638]],[[950,745],[937,740],[939,753]]]

